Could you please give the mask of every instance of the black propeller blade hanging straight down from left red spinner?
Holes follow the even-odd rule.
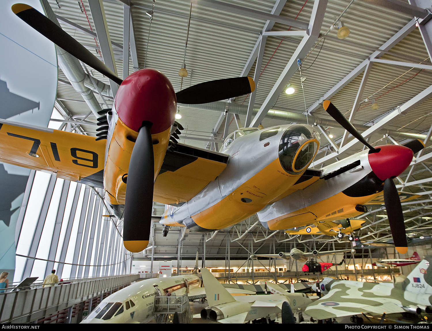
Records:
[[[127,173],[123,243],[130,252],[141,252],[149,243],[155,167],[151,127],[151,122],[143,122]]]

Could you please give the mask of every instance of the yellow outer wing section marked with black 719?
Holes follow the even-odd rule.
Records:
[[[0,161],[103,187],[106,140],[0,120]]]

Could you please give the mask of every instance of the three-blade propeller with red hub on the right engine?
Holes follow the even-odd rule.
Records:
[[[330,116],[334,118],[334,120],[336,120],[351,135],[353,135],[360,142],[366,145],[366,147],[369,148],[370,150],[369,155],[376,153],[374,154],[373,159],[375,163],[379,163],[379,166],[381,168],[391,167],[392,165],[390,163],[397,161],[397,156],[392,156],[392,158],[388,158],[388,154],[384,154],[385,152],[381,152],[381,148],[374,148],[371,145],[369,145],[368,142],[366,142],[366,140],[363,138],[363,136],[354,128],[354,126],[351,123],[349,123],[349,121],[342,115],[342,113],[340,113],[340,111],[330,101],[328,100],[324,101],[323,106],[324,109],[327,111],[327,113],[329,113]],[[416,153],[420,151],[424,147],[424,145],[419,140],[413,140],[405,144],[404,147],[402,148],[405,147],[410,148],[413,151],[413,153]],[[403,157],[405,159],[407,158],[405,155],[403,155]],[[412,160],[412,155],[411,155],[411,160]],[[374,170],[373,167],[372,170]],[[387,216],[388,216],[388,221],[390,223],[390,229],[391,229],[391,234],[393,236],[394,246],[396,246],[398,252],[400,252],[401,254],[405,254],[407,252],[407,246],[408,246],[407,235],[405,232],[405,224],[403,222],[403,213],[402,213],[402,206],[400,204],[399,194],[397,192],[396,185],[393,182],[393,178],[395,176],[386,175],[386,171],[383,171],[382,173],[384,174],[380,173],[381,177],[380,176],[378,177],[380,178],[380,180],[384,181],[384,205],[387,210]]]

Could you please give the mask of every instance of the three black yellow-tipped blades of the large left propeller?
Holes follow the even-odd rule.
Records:
[[[78,60],[107,76],[121,85],[117,77],[104,63],[95,57],[78,41],[43,14],[29,5],[17,3],[12,6],[13,13],[40,32],[57,46],[72,54]],[[177,102],[182,104],[200,104],[234,98],[251,93],[255,89],[254,81],[249,77],[219,79],[193,85],[176,93]],[[172,119],[174,122],[174,118]],[[123,240],[132,252],[142,251],[149,242],[152,214],[154,161],[150,129],[151,122],[143,122],[130,157],[124,208]],[[108,125],[98,130],[105,132]]]

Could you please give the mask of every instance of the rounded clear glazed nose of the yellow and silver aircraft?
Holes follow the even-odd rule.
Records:
[[[282,167],[293,175],[300,173],[314,158],[318,141],[301,125],[286,129],[279,143],[279,160]]]

